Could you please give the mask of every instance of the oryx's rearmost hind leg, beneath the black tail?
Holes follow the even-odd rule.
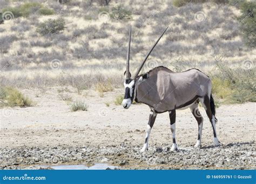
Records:
[[[217,132],[216,132],[216,122],[215,122],[215,116],[212,114],[211,110],[211,104],[210,104],[210,96],[206,95],[204,98],[200,98],[200,102],[203,104],[203,107],[205,108],[206,114],[212,124],[212,129],[213,129],[213,145],[214,146],[219,146],[219,140],[217,137]]]

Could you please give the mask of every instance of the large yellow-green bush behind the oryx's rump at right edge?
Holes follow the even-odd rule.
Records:
[[[229,68],[223,62],[217,62],[219,70],[212,76],[212,92],[224,103],[256,102],[256,69],[254,67]]]

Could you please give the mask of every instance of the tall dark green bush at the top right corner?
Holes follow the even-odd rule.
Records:
[[[240,29],[247,46],[256,47],[256,3],[244,2],[240,5],[242,15],[239,17]]]

